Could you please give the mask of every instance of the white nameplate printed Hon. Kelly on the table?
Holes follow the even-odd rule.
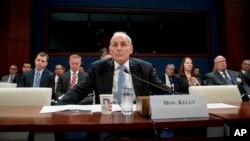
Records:
[[[203,96],[150,96],[152,119],[208,117],[207,102]]]

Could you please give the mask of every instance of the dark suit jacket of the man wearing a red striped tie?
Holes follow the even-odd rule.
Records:
[[[83,79],[85,79],[86,76],[87,73],[79,71],[77,84],[79,84]],[[65,94],[70,91],[70,78],[70,71],[65,72],[61,77],[59,77],[56,89],[56,93],[58,95]]]

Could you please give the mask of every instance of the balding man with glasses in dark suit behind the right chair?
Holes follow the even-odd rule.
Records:
[[[242,94],[242,100],[249,101],[243,87],[245,83],[239,78],[238,72],[227,69],[227,62],[224,56],[219,55],[214,59],[214,67],[215,71],[205,75],[204,81],[206,85],[238,85],[239,91]]]

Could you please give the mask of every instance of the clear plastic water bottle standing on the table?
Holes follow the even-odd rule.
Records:
[[[133,87],[123,86],[121,90],[121,111],[123,115],[131,115],[133,113],[134,95]]]

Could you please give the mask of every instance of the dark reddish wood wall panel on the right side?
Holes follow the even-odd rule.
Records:
[[[228,69],[240,70],[242,60],[247,58],[243,38],[242,0],[225,0],[225,57]],[[222,27],[221,27],[222,28]]]

